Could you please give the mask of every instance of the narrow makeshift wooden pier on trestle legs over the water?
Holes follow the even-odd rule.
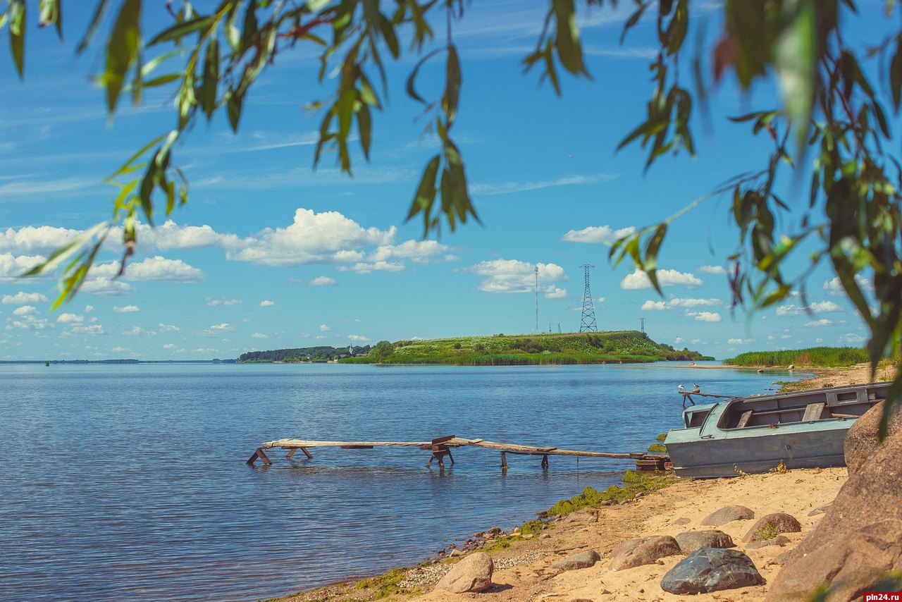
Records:
[[[636,469],[640,471],[662,471],[665,469],[665,463],[670,459],[667,456],[651,455],[644,451],[612,453],[607,451],[557,449],[555,447],[498,443],[496,441],[466,439],[464,437],[448,435],[431,441],[311,441],[301,439],[280,439],[263,443],[253,452],[251,458],[247,460],[247,464],[253,466],[254,462],[259,458],[264,465],[271,465],[272,460],[267,457],[266,449],[273,448],[288,449],[289,451],[285,456],[286,458],[291,458],[298,449],[300,449],[308,458],[313,458],[313,454],[310,453],[310,449],[313,448],[373,449],[377,447],[404,447],[430,451],[432,455],[429,457],[426,466],[430,466],[432,460],[437,460],[438,466],[441,468],[445,468],[446,456],[451,460],[451,465],[454,466],[454,456],[451,455],[452,448],[464,447],[495,449],[500,451],[502,455],[502,469],[508,468],[507,454],[541,456],[541,467],[543,469],[548,469],[548,456],[575,456],[577,461],[579,461],[579,458],[634,459],[636,460]]]

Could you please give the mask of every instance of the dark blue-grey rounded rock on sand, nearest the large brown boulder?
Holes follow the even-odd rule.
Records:
[[[661,589],[671,594],[706,594],[763,583],[755,563],[741,551],[700,548],[665,573]]]

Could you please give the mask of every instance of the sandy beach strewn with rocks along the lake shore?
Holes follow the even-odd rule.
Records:
[[[806,370],[808,371],[808,370]],[[805,381],[806,388],[870,382],[870,366],[848,369],[810,370],[816,377]],[[878,377],[881,375],[878,375]],[[889,375],[891,376],[891,374]],[[799,387],[794,387],[799,388]],[[655,564],[627,570],[610,570],[610,554],[615,545],[647,535],[676,536],[684,531],[720,529],[732,537],[736,549],[746,553],[760,574],[772,580],[781,566],[779,557],[793,549],[823,516],[845,483],[845,468],[815,468],[773,472],[764,475],[717,479],[676,479],[657,491],[622,504],[588,508],[558,518],[538,536],[489,539],[483,549],[492,554],[495,570],[492,588],[480,594],[453,594],[434,585],[456,559],[431,560],[419,567],[395,570],[382,577],[337,584],[307,593],[280,598],[290,602],[344,602],[345,600],[387,599],[471,600],[475,597],[497,602],[548,600],[563,602],[593,600],[676,600],[685,599],[659,587],[661,577],[683,556],[669,556]],[[562,492],[575,495],[579,492]],[[756,518],[770,513],[786,513],[801,523],[801,533],[785,533],[788,542],[751,549],[742,542],[754,520],[737,520],[719,527],[703,526],[702,519],[727,505],[743,505]],[[510,535],[510,533],[508,534]],[[499,542],[509,543],[502,548]],[[600,556],[593,567],[557,570],[552,564],[580,551],[594,550]],[[763,600],[767,584],[702,594],[694,599]]]

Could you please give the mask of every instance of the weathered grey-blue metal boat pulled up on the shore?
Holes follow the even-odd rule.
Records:
[[[692,405],[684,428],[667,432],[678,477],[735,477],[737,470],[845,466],[842,443],[852,422],[885,399],[889,383],[726,398]]]

